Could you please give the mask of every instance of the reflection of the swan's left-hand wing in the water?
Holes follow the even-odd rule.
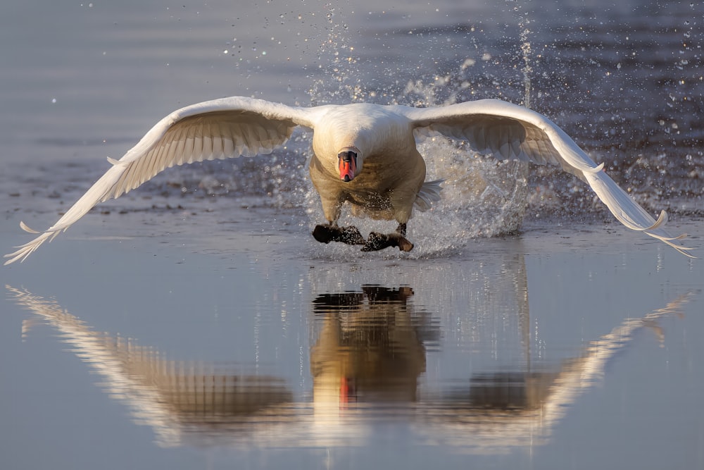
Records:
[[[130,407],[134,421],[151,426],[162,445],[180,445],[189,433],[203,443],[222,433],[246,437],[252,426],[294,416],[293,395],[282,378],[172,361],[134,340],[96,332],[54,300],[6,287],[15,302],[59,331],[71,351],[101,375],[106,392]],[[23,335],[31,321],[23,323]]]

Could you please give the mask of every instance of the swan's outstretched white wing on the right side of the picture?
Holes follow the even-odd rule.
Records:
[[[603,171],[551,120],[535,111],[498,99],[483,99],[441,108],[408,108],[397,111],[409,118],[417,132],[440,133],[467,142],[472,149],[498,159],[517,159],[560,165],[564,171],[589,183],[611,213],[626,227],[639,230],[686,252],[691,248],[674,243],[662,225],[667,213],[656,221]],[[693,257],[693,256],[691,256]]]

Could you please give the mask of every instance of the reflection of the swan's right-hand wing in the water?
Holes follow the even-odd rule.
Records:
[[[505,452],[542,445],[579,395],[603,378],[605,370],[642,328],[662,340],[658,320],[677,314],[691,293],[639,319],[626,319],[589,343],[584,353],[554,370],[478,373],[467,390],[425,397],[417,409],[415,431],[425,443],[462,447],[467,452]]]

